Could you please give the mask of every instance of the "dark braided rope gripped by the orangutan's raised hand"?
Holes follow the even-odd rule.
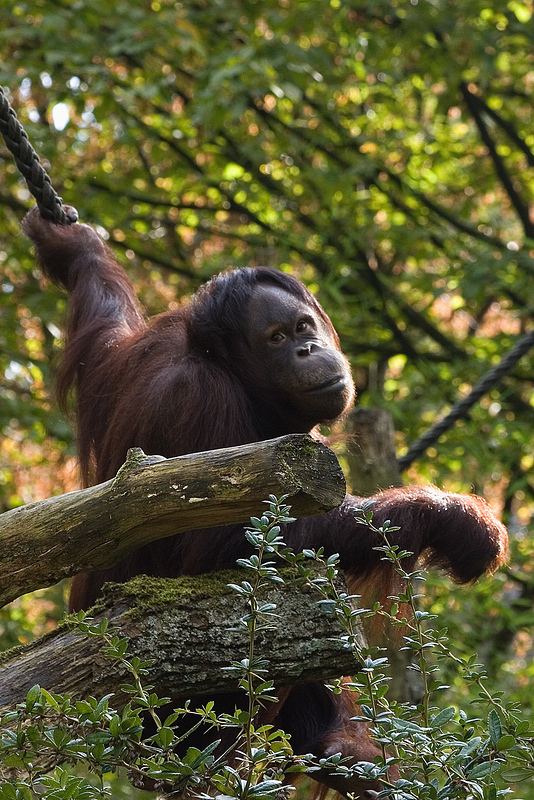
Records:
[[[41,216],[60,225],[70,225],[75,219],[63,210],[63,201],[52,187],[50,177],[39,163],[39,156],[28,140],[28,134],[17,119],[4,90],[0,86],[0,133],[22,173],[28,189],[35,197]]]

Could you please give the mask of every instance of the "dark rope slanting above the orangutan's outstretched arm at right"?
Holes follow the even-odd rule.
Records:
[[[534,330],[525,333],[510,350],[508,355],[475,384],[467,397],[459,400],[453,405],[446,417],[443,417],[437,425],[434,425],[427,433],[415,442],[406,455],[397,460],[400,470],[408,469],[410,464],[423,455],[430,445],[437,442],[439,437],[452,428],[455,422],[467,415],[469,409],[477,403],[481,397],[496,386],[510,370],[515,367],[519,359],[527,353],[534,345]]]

